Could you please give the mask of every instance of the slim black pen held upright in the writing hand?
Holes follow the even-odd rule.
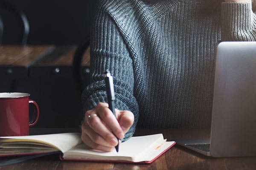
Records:
[[[107,91],[107,96],[108,96],[108,108],[112,111],[112,113],[116,117],[113,77],[111,76],[110,71],[108,71],[108,70],[105,71],[104,78],[105,78],[106,91]],[[117,137],[116,137],[116,139],[117,139],[116,152],[118,152],[118,150],[119,150],[119,139]]]

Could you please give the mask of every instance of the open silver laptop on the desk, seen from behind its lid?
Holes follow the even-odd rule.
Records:
[[[256,42],[216,48],[210,139],[176,140],[212,157],[256,156]]]

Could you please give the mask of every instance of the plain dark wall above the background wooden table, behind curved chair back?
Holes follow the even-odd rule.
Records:
[[[78,44],[90,33],[95,0],[0,0],[20,8],[30,24],[28,44]],[[0,8],[5,23],[3,44],[17,43],[15,17]]]

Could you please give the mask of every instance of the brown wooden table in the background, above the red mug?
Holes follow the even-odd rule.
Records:
[[[0,45],[0,78],[38,78],[71,76],[76,45]],[[81,63],[89,73],[90,48]]]

